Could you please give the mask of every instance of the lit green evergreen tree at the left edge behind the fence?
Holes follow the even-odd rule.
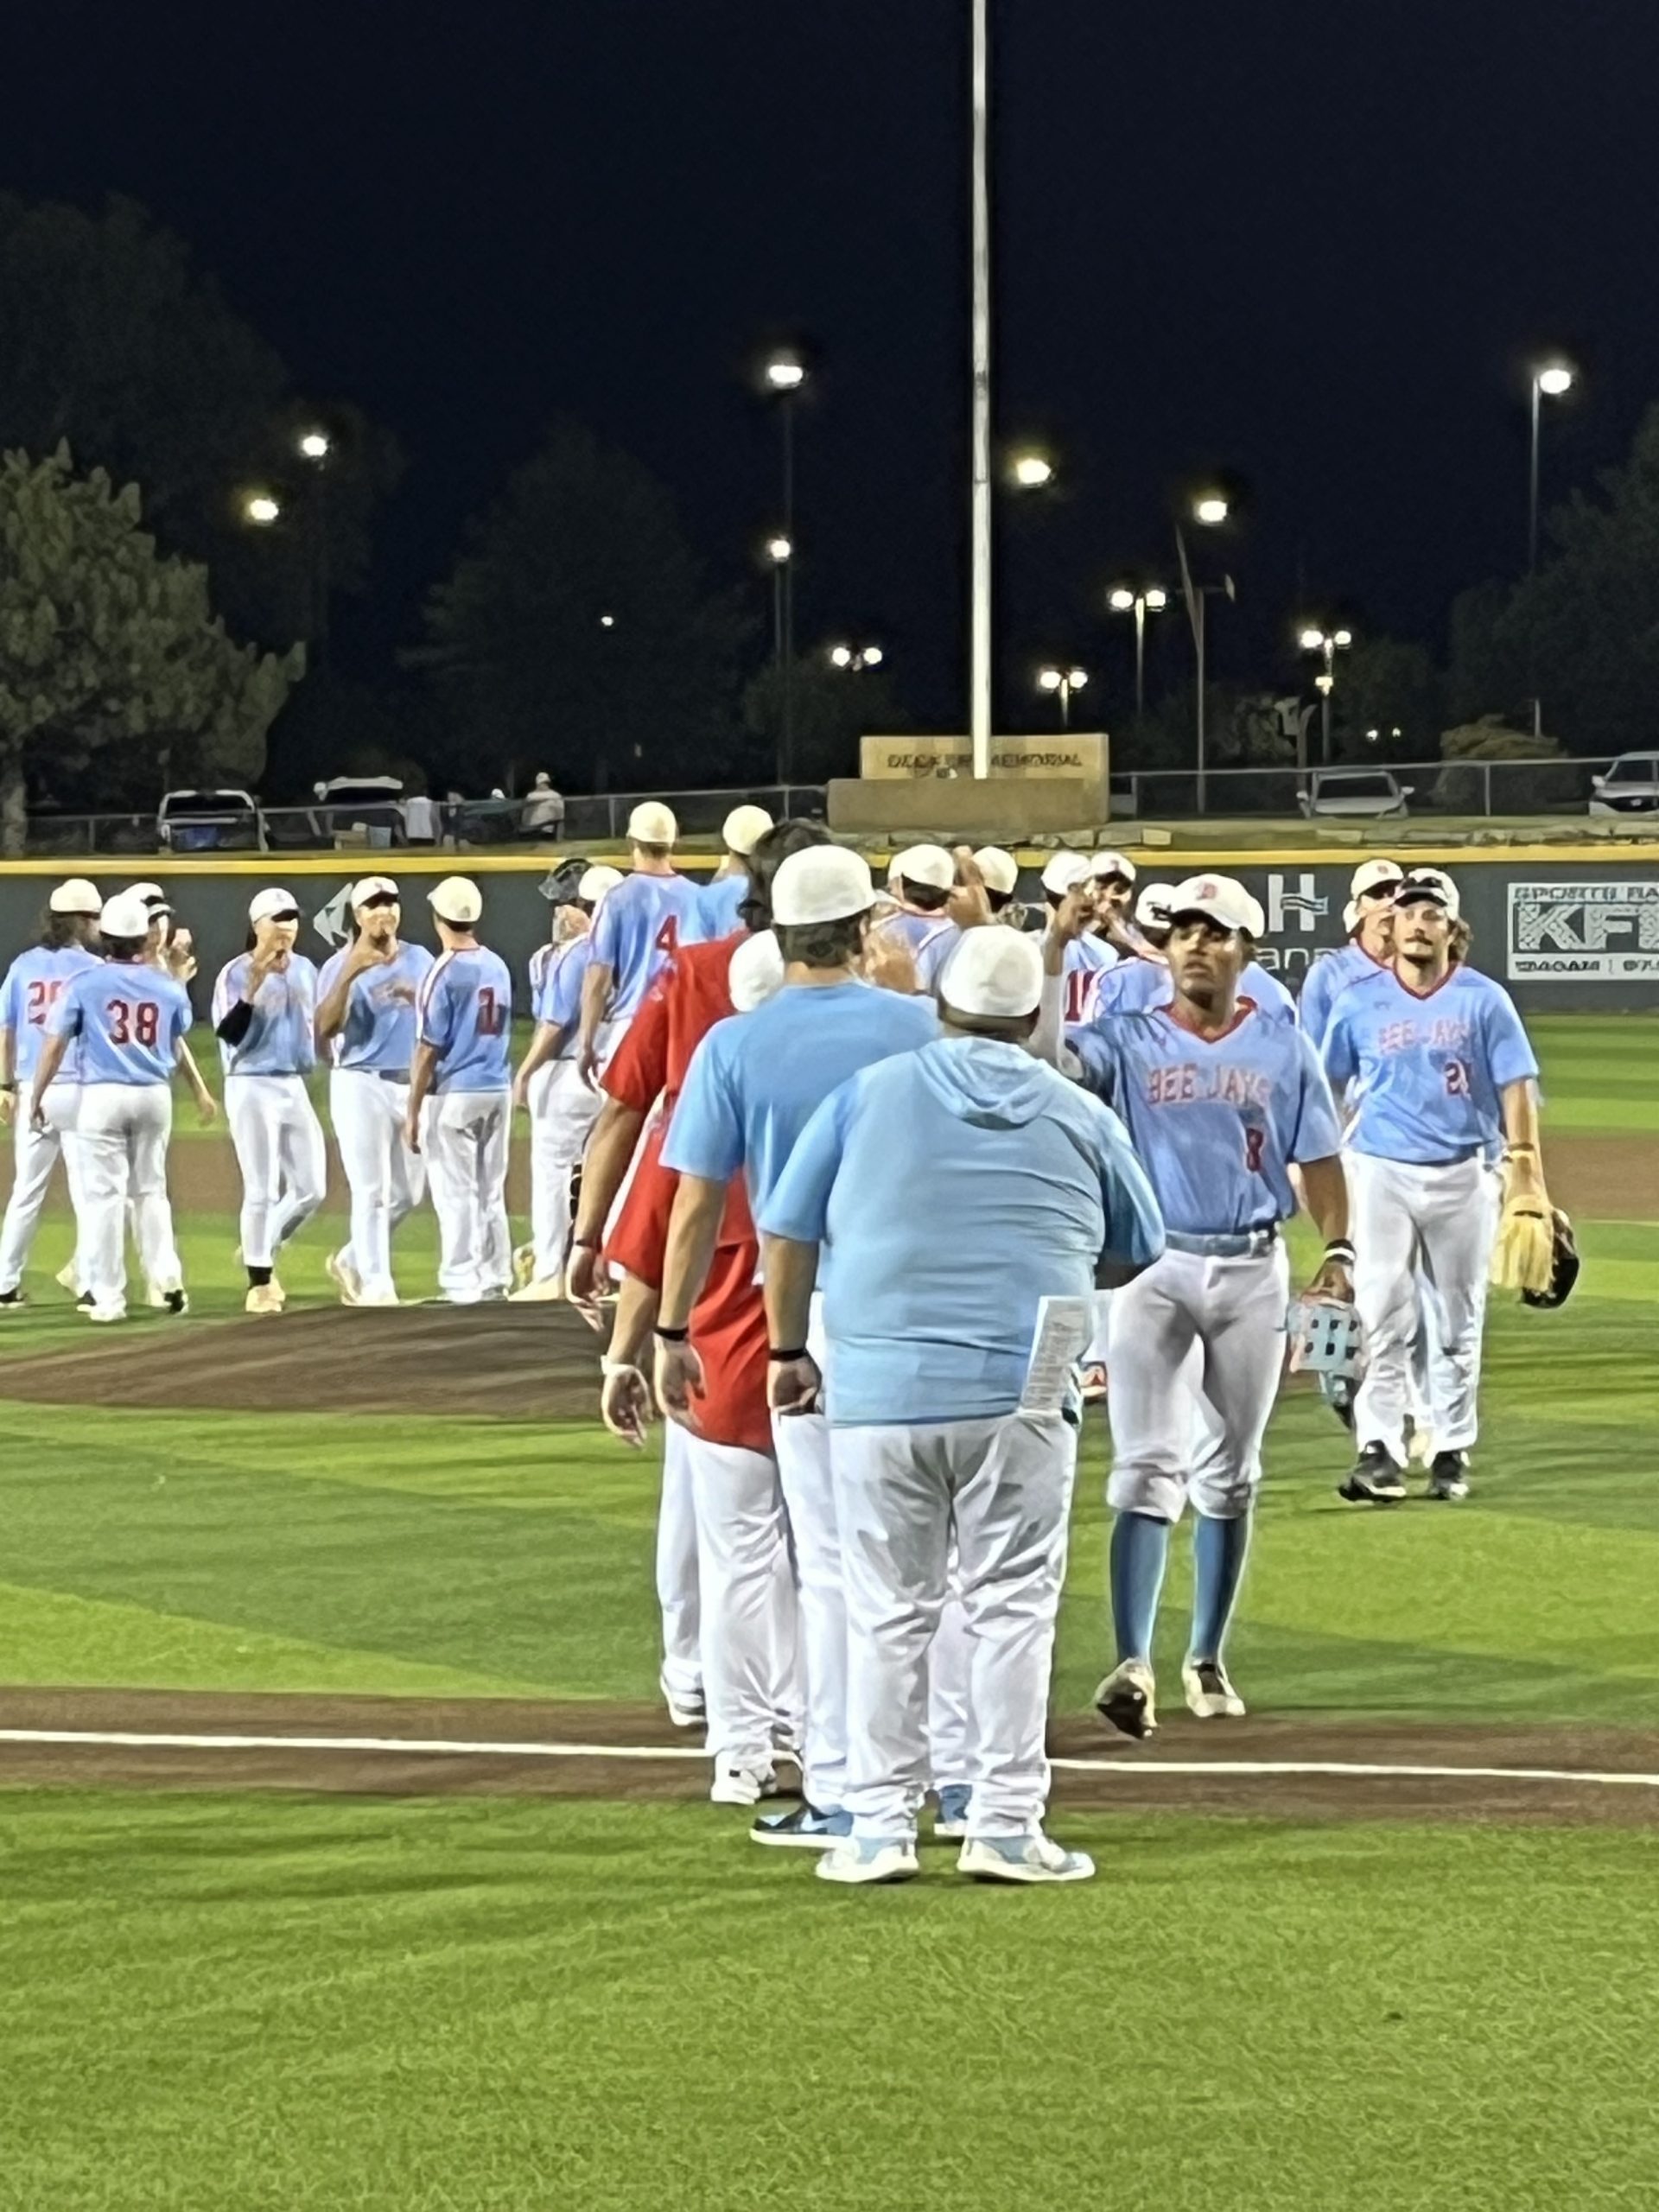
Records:
[[[252,783],[265,730],[305,672],[239,646],[208,606],[208,571],[139,529],[137,487],[75,476],[69,447],[0,460],[0,843],[22,852],[27,779],[58,796],[95,770],[102,805],[157,785]]]

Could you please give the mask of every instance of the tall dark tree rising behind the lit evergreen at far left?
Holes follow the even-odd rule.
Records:
[[[0,447],[144,484],[168,553],[212,568],[221,611],[265,644],[316,637],[325,586],[356,588],[394,440],[343,403],[301,403],[281,356],[131,199],[100,215],[0,195]],[[305,429],[330,436],[319,467]],[[250,529],[243,500],[283,507]]]

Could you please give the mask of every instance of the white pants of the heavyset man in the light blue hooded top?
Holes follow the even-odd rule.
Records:
[[[1042,1825],[1044,1721],[1077,1431],[1057,1413],[832,1429],[847,1577],[854,1836],[916,1834],[929,1781],[927,1650],[958,1546],[971,1652],[971,1836]]]

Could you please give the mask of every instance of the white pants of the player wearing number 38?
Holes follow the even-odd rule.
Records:
[[[173,1091],[166,1084],[82,1084],[75,1117],[80,1254],[95,1305],[126,1305],[128,1199],[144,1279],[161,1292],[184,1285],[168,1203],[170,1135]]]

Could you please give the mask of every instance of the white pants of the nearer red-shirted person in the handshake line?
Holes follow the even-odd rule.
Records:
[[[801,1723],[796,1601],[779,1467],[770,1451],[714,1444],[686,1429],[670,1433],[681,1438],[690,1464],[697,1515],[697,1641],[708,1750],[723,1763],[763,1772],[772,1765],[779,1730]],[[675,1681],[684,1677],[677,1672]]]

